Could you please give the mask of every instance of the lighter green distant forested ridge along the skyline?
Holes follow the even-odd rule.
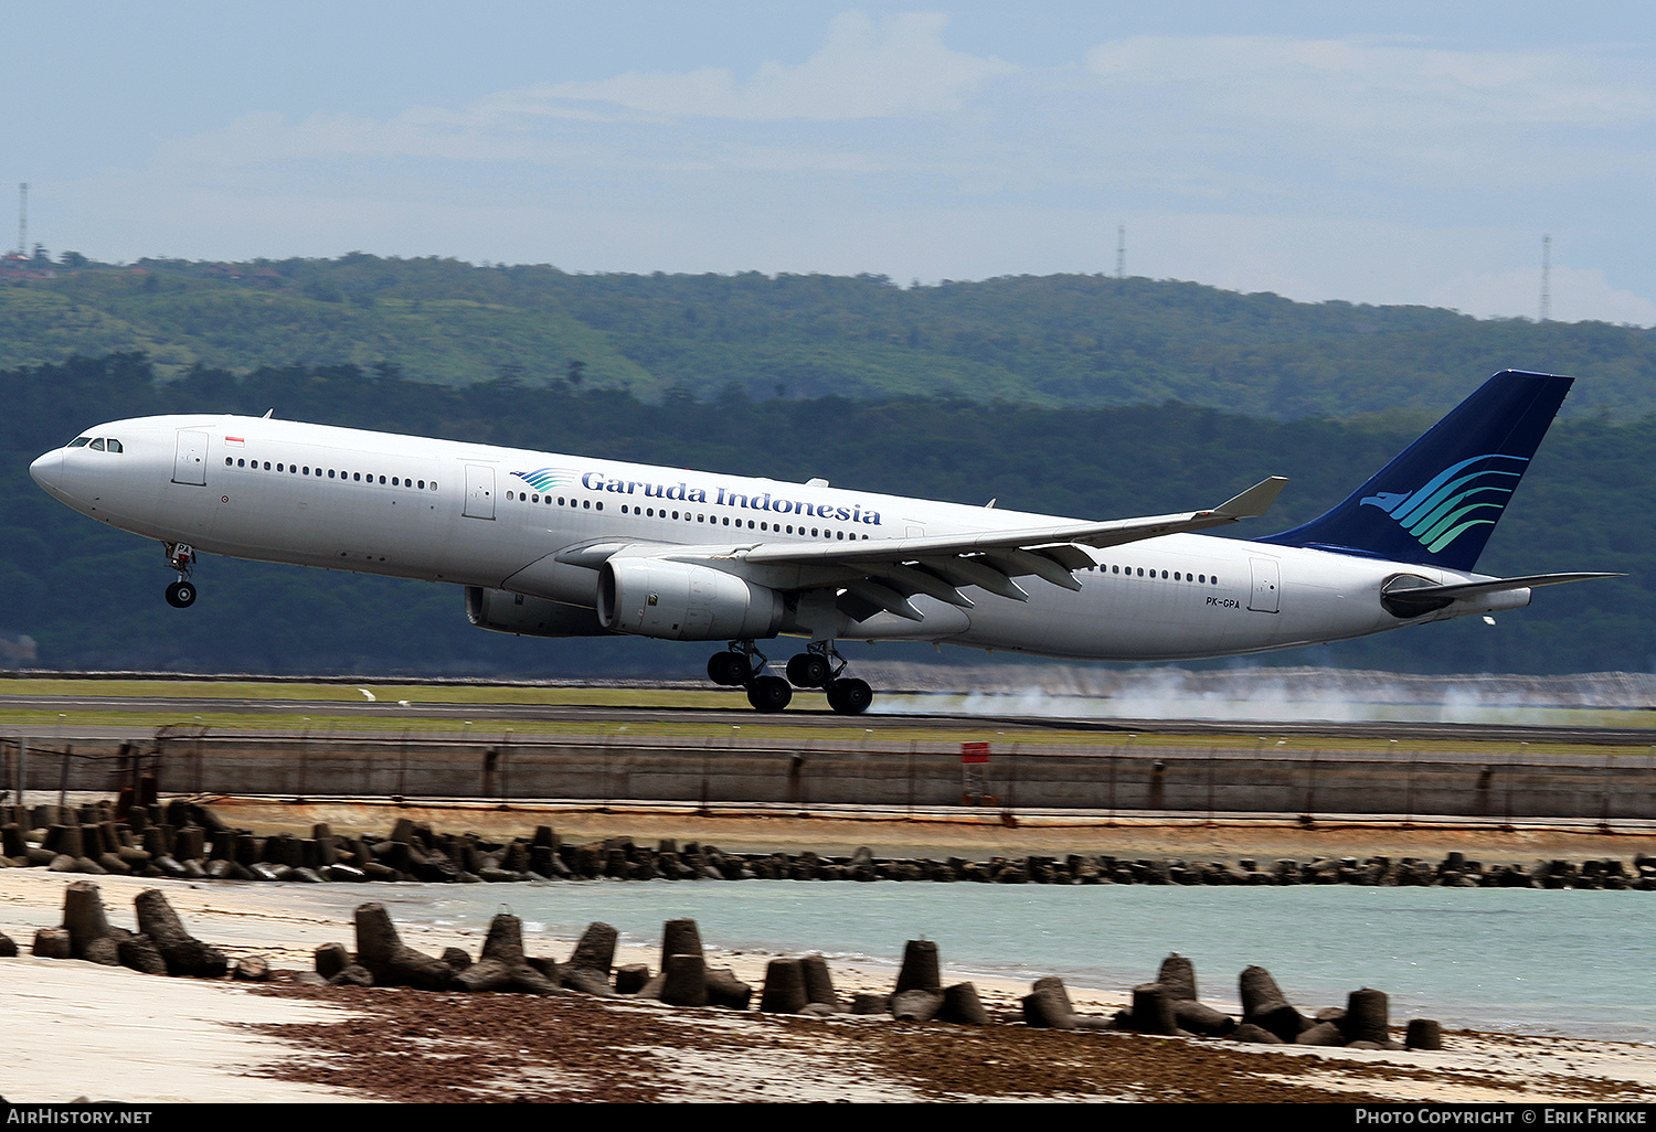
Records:
[[[0,268],[0,367],[139,351],[195,366],[358,366],[472,386],[669,394],[1177,401],[1277,420],[1437,412],[1499,369],[1585,377],[1570,415],[1656,412],[1653,333],[1293,303],[1100,275],[898,286],[883,276],[570,275],[454,260]]]

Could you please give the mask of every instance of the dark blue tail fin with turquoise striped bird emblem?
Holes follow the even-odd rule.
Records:
[[[1573,381],[1495,374],[1345,503],[1254,541],[1471,571]]]

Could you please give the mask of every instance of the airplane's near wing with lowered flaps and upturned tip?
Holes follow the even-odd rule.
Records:
[[[800,583],[792,588],[833,586],[840,591],[840,609],[858,621],[881,611],[921,621],[922,614],[909,602],[916,594],[970,609],[972,599],[960,592],[970,586],[1028,601],[1028,592],[1013,579],[1030,574],[1080,589],[1073,571],[1093,564],[1080,546],[1119,546],[1254,518],[1277,500],[1285,483],[1287,478],[1273,475],[1216,508],[1182,515],[856,543],[758,543],[727,548],[719,558],[772,571],[797,569]],[[669,551],[667,556],[686,554]]]

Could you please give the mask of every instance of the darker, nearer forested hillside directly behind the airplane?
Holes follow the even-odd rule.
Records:
[[[1449,409],[1479,377],[1432,404]],[[1257,536],[1336,503],[1414,439],[1394,424],[1259,420],[1179,404],[1055,410],[956,399],[639,402],[618,391],[414,382],[354,366],[157,381],[136,354],[0,372],[0,654],[31,664],[242,672],[699,675],[709,649],[628,639],[525,640],[472,629],[454,586],[204,558],[200,601],[169,607],[157,543],[113,531],[28,478],[38,453],[116,417],[229,410],[538,450],[715,468],[1085,518],[1194,510],[1270,473],[1292,482]],[[1489,543],[1502,574],[1625,571],[1477,617],[1272,659],[1426,672],[1649,670],[1656,664],[1656,415],[1560,422]],[[901,655],[916,645],[878,645]],[[863,655],[858,645],[851,655]],[[889,652],[888,652],[889,650]],[[13,664],[18,652],[13,649]],[[778,654],[785,655],[785,654]],[[926,659],[934,659],[924,649]],[[975,659],[964,649],[942,657]]]

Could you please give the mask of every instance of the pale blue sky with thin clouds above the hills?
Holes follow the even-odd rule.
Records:
[[[1444,12],[1447,8],[1447,12]],[[1656,324],[1646,3],[7,0],[0,245]]]

